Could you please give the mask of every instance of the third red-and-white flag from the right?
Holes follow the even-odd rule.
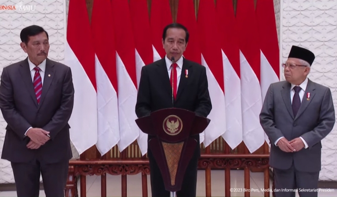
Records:
[[[217,19],[223,55],[226,104],[226,132],[231,149],[242,142],[240,50],[232,0],[217,0]]]

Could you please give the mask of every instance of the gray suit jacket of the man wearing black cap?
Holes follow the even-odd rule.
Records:
[[[294,117],[290,97],[291,84],[280,81],[269,86],[260,114],[260,122],[271,142],[269,164],[278,169],[289,169],[294,162],[297,170],[321,170],[321,140],[335,124],[335,109],[328,87],[308,80],[300,110]],[[306,99],[307,93],[310,99]],[[291,141],[302,137],[307,149],[286,153],[275,146],[280,137]]]

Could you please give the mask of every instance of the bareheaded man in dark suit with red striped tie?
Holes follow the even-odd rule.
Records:
[[[24,28],[28,58],[3,68],[0,109],[7,122],[1,158],[11,162],[18,197],[38,197],[42,175],[46,197],[64,197],[72,151],[68,120],[74,86],[68,66],[47,59],[47,32]]]

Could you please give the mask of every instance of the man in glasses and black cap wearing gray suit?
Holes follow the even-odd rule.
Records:
[[[269,86],[260,122],[271,142],[276,197],[317,197],[321,140],[335,124],[328,87],[307,78],[314,54],[293,46],[283,64],[286,81]]]

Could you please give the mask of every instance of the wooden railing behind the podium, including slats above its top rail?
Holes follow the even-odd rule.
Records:
[[[201,146],[202,154],[198,168],[205,169],[206,197],[211,197],[211,169],[225,170],[225,197],[230,197],[230,169],[244,169],[244,188],[250,189],[250,171],[264,173],[264,189],[269,189],[269,150],[266,144],[253,154],[248,153],[242,143],[231,150],[222,138],[215,140],[209,147]],[[148,197],[147,175],[150,174],[149,160],[141,156],[137,143],[119,153],[114,147],[102,158],[72,159],[65,189],[66,197],[77,197],[77,176],[80,176],[80,197],[86,197],[86,176],[101,176],[101,197],[107,196],[107,174],[121,176],[121,196],[127,197],[127,176],[142,174],[142,196]],[[248,191],[248,190],[247,190]],[[245,197],[250,197],[245,192]],[[269,197],[269,192],[264,192]]]

